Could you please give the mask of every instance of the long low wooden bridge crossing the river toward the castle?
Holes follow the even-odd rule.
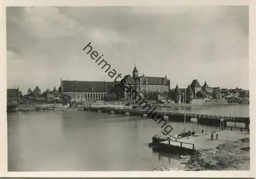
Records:
[[[105,108],[105,107],[84,107],[84,110],[88,111],[98,111],[102,113],[112,113],[112,114],[125,114],[125,115],[134,115],[141,117],[152,117],[155,119],[168,119],[170,121],[184,121],[184,113],[175,113],[175,112],[165,112],[165,111],[146,111],[143,109],[134,110],[134,109],[118,109],[118,108]],[[194,118],[198,123],[201,124],[210,124],[216,126],[226,127],[227,122],[236,123],[245,123],[245,128],[249,131],[249,117],[234,117],[234,116],[223,116],[223,115],[204,115],[204,114],[191,114],[186,113],[186,121],[191,121]],[[223,122],[222,122],[223,121]]]

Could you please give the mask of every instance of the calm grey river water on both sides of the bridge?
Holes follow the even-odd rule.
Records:
[[[170,108],[165,109],[170,110]],[[172,111],[184,111],[172,108]],[[188,108],[198,114],[249,116],[248,105]],[[8,171],[135,171],[166,164],[176,169],[177,156],[154,153],[147,143],[162,129],[152,119],[89,111],[9,113]],[[170,122],[171,134],[183,122]],[[200,133],[218,127],[186,123]]]

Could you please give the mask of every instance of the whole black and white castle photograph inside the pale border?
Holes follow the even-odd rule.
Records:
[[[252,170],[249,6],[8,6],[6,50],[8,172]]]

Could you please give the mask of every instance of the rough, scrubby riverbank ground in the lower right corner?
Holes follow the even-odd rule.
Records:
[[[249,137],[245,137],[236,141],[220,143],[214,149],[198,150],[192,156],[181,156],[178,170],[250,170],[249,141]],[[174,169],[165,167],[154,170],[170,171]]]

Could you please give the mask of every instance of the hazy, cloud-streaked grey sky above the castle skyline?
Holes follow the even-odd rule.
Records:
[[[122,76],[170,79],[184,88],[249,89],[247,6],[8,7],[7,87],[23,94],[62,80],[113,81],[82,49],[94,50]]]

